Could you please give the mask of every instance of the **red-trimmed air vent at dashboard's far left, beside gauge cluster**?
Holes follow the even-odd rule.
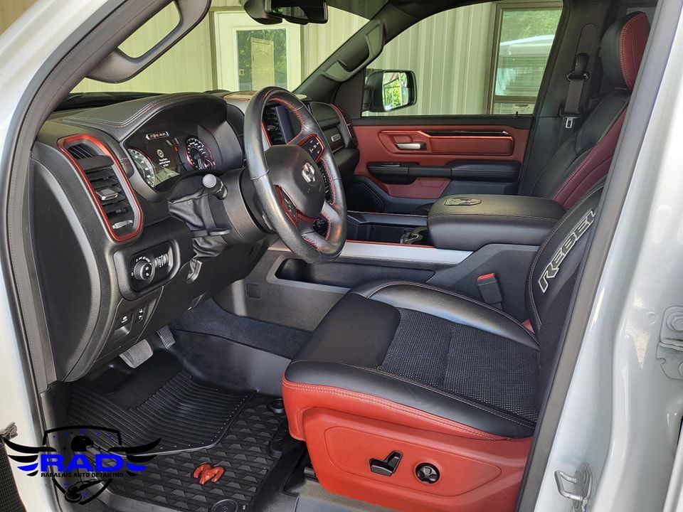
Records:
[[[122,242],[139,233],[142,212],[116,157],[102,142],[85,135],[60,140],[60,149],[73,157],[112,238]],[[131,200],[132,198],[132,200]]]

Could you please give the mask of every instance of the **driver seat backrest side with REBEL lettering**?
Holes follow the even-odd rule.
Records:
[[[531,263],[526,282],[526,310],[539,341],[539,401],[549,381],[578,267],[586,251],[588,233],[595,221],[604,181],[595,184],[559,220]]]

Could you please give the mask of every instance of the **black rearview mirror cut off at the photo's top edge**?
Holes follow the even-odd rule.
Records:
[[[240,0],[246,13],[264,25],[290,23],[327,23],[325,0]]]

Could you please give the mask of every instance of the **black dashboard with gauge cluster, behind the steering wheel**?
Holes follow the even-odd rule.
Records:
[[[244,279],[268,249],[272,235],[248,196],[249,97],[159,95],[57,112],[43,125],[31,159],[31,239],[58,380],[83,377]],[[352,128],[332,105],[307,107],[350,179],[359,160]],[[277,106],[263,125],[265,148],[299,130]],[[193,208],[171,215],[171,206],[191,198],[209,208],[207,173],[221,176],[230,208],[214,216],[217,234],[202,238]]]

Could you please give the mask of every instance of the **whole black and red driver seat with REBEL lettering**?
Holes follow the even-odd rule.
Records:
[[[324,488],[400,511],[512,511],[602,189],[539,248],[533,332],[410,282],[354,289],[329,311],[282,382]]]

